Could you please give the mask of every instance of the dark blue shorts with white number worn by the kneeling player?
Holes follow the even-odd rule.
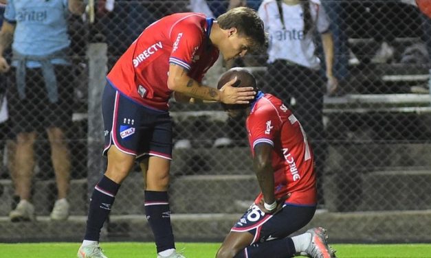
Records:
[[[276,214],[267,214],[252,204],[230,231],[252,234],[254,238],[251,244],[280,239],[307,225],[315,212],[315,206],[285,204]]]

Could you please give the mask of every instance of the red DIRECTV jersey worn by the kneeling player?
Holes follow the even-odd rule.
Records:
[[[250,147],[269,143],[274,167],[274,193],[276,198],[291,193],[286,202],[316,205],[316,175],[313,150],[296,117],[283,102],[270,94],[259,93],[250,116],[247,117],[247,131]],[[255,202],[263,198],[258,195]]]

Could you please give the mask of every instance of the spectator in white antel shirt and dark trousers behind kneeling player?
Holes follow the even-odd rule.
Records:
[[[327,92],[334,93],[333,38],[329,18],[318,1],[265,0],[258,10],[269,33],[267,92],[291,104],[309,134],[316,156],[318,201],[322,198],[322,172],[326,158],[323,127],[324,80],[315,54],[313,31],[321,34],[327,75]]]

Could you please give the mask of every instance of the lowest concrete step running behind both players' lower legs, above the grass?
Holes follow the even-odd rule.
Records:
[[[173,214],[171,221],[177,242],[220,242],[242,213]],[[12,223],[0,217],[0,242],[82,241],[86,216],[71,216],[66,222],[52,222],[38,217],[36,222]],[[330,243],[417,243],[431,242],[424,228],[431,224],[431,210],[356,213],[316,213],[300,232],[313,226],[328,229]],[[396,225],[396,226],[394,226]],[[153,242],[144,215],[111,215],[103,242]],[[71,254],[74,255],[74,254]]]

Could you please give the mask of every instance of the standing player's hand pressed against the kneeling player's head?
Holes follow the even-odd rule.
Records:
[[[220,89],[220,101],[224,104],[248,104],[254,99],[256,92],[253,87],[234,87],[237,77],[223,85]]]

